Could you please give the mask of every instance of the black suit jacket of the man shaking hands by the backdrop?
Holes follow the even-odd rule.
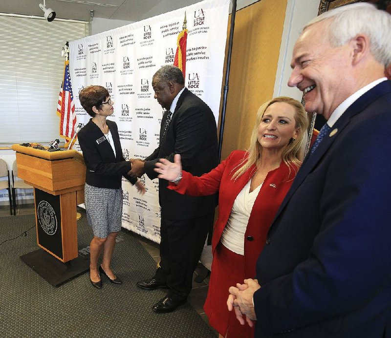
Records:
[[[217,166],[217,127],[212,110],[187,88],[176,104],[171,124],[164,134],[165,119],[160,128],[160,144],[145,160],[145,172],[152,180],[159,158],[174,162],[180,154],[183,170],[201,176]],[[167,189],[168,182],[159,179],[159,203],[163,218],[190,219],[215,210],[215,197],[192,197]]]

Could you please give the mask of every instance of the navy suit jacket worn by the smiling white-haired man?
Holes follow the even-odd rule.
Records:
[[[386,81],[348,107],[282,202],[257,262],[255,337],[391,337],[390,201]]]

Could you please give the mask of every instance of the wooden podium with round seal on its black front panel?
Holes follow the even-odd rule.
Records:
[[[12,149],[16,151],[18,177],[34,187],[38,246],[62,263],[75,261],[78,258],[76,206],[84,203],[86,179],[83,156],[76,150],[49,152],[21,145],[13,145]],[[42,275],[36,267],[36,260],[44,256],[42,250],[39,252],[39,257],[33,259],[35,262],[27,262],[24,259],[26,255],[21,258]],[[64,268],[59,261],[63,274]],[[54,262],[54,265],[58,264]],[[48,270],[47,267],[44,269]],[[50,275],[56,273],[54,270],[46,271],[50,278],[52,278]],[[44,275],[42,276],[48,280]],[[60,280],[61,284],[70,278],[66,277],[65,281],[61,281],[62,278],[54,276],[54,279]],[[52,285],[59,285],[48,281]]]

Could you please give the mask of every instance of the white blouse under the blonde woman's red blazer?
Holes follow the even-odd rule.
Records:
[[[262,183],[250,192],[251,180],[239,192],[232,206],[227,225],[221,234],[221,243],[234,253],[244,255],[244,234],[254,202],[261,190]]]

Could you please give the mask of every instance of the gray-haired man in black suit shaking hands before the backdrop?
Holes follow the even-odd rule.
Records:
[[[180,154],[184,170],[201,176],[217,166],[217,127],[212,110],[184,86],[182,71],[166,65],[152,78],[155,99],[166,109],[160,128],[160,143],[144,161],[132,160],[132,173],[154,171],[159,158],[174,161]],[[180,178],[178,178],[179,180]],[[160,263],[155,275],[137,283],[140,288],[169,288],[152,309],[172,312],[183,304],[192,289],[197,266],[215,211],[215,196],[192,197],[167,189],[159,179]]]

